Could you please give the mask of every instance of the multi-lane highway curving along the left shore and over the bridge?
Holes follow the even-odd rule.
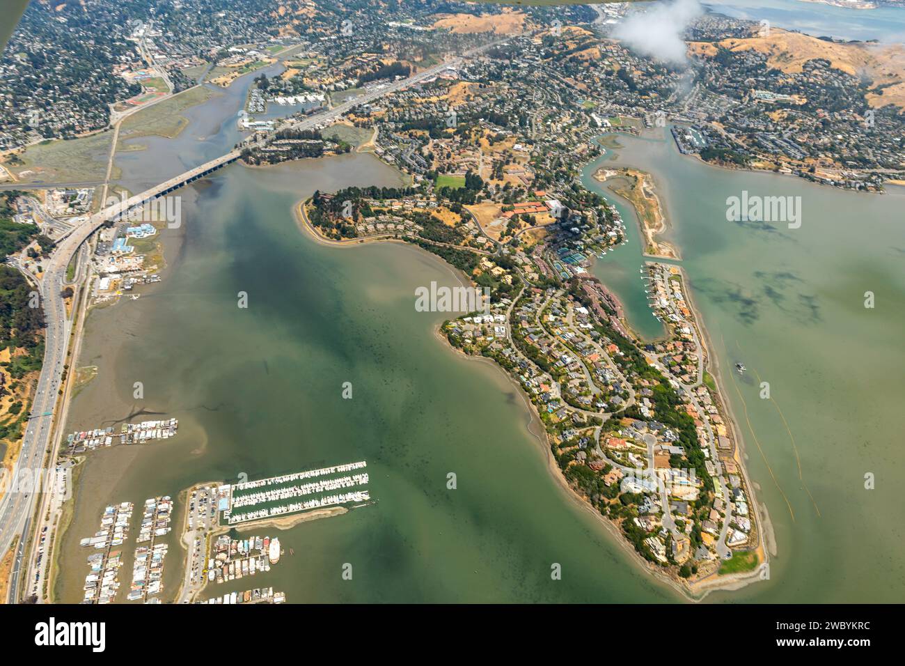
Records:
[[[389,83],[382,88],[366,92],[351,100],[345,101],[329,111],[317,113],[297,121],[289,121],[285,123],[281,129],[291,128],[306,130],[322,123],[336,120],[357,104],[367,104],[384,95],[423,82],[424,80],[443,72],[443,70],[448,67],[459,66],[465,58],[486,51],[497,44],[507,42],[511,38],[511,36],[508,36],[491,43],[486,43],[463,53],[460,57],[434,65],[433,67],[424,70],[424,72],[418,72],[407,79]],[[272,135],[273,133],[271,132],[257,140],[247,141],[245,145],[262,145],[262,143],[266,142]],[[55,467],[57,458],[56,449],[62,439],[62,433],[55,440],[52,440],[52,425],[53,419],[59,417],[60,414],[65,411],[58,411],[56,402],[58,395],[62,391],[63,365],[66,362],[66,352],[69,347],[72,327],[71,317],[66,313],[66,307],[62,299],[62,289],[65,283],[66,266],[69,265],[72,256],[74,256],[75,253],[79,251],[82,244],[108,220],[120,217],[127,213],[129,209],[136,208],[152,198],[164,196],[169,192],[182,188],[195,179],[204,178],[215,169],[219,169],[226,164],[230,164],[236,159],[239,159],[240,154],[240,150],[232,150],[219,158],[212,159],[209,162],[205,162],[205,164],[195,167],[195,169],[189,169],[175,178],[168,179],[154,188],[149,188],[125,201],[119,201],[108,208],[103,208],[100,212],[95,213],[82,222],[78,227],[72,228],[66,236],[62,236],[62,238],[57,241],[57,245],[53,249],[50,259],[48,259],[46,263],[46,269],[42,277],[40,288],[41,303],[43,305],[46,323],[43,366],[37,384],[37,393],[34,396],[30,420],[28,421],[28,427],[22,442],[22,451],[14,466],[14,475],[20,475],[22,470],[30,470],[32,475],[34,475],[35,471],[42,468],[45,453],[52,454],[50,457],[50,464],[53,464]],[[3,187],[4,186],[0,186],[0,188]],[[18,184],[12,188],[23,187],[25,187],[24,184]],[[88,285],[82,286],[83,288],[88,287]],[[81,326],[84,322],[84,316],[77,317],[77,321]],[[78,345],[76,344],[74,346],[77,349]],[[76,359],[73,358],[71,360],[73,372],[75,364]],[[47,412],[53,412],[53,415],[43,416],[43,414],[46,414]],[[59,422],[56,424],[56,429],[60,430],[64,426],[65,423]],[[52,443],[55,445],[52,446]],[[25,527],[28,525],[30,517],[34,514],[38,497],[39,493],[34,491],[6,492],[3,497],[0,497],[0,557],[5,555],[14,536],[25,534]],[[42,527],[47,524],[45,522],[46,511],[44,509],[48,506],[50,500],[46,497],[44,499],[47,499],[48,501],[43,502],[41,516],[38,520],[34,521],[33,524],[36,534],[40,534]],[[23,543],[26,539],[27,534],[22,540]],[[31,546],[26,544],[24,547],[30,548]],[[29,563],[33,561],[33,553],[30,553],[29,551],[25,552],[29,554],[27,555],[27,562],[24,566],[31,572],[32,569]],[[46,560],[51,556],[51,553],[47,553],[44,559]],[[18,561],[19,557],[17,556],[16,559]],[[46,570],[45,565],[46,562],[43,562],[43,566],[38,567],[38,580],[30,582],[31,586],[37,585],[39,590],[41,589],[40,576]],[[12,591],[14,586],[11,585],[10,588]],[[14,597],[11,597],[11,600],[13,602],[18,601]]]

